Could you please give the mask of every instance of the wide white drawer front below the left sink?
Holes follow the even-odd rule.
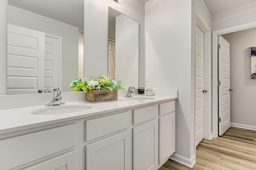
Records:
[[[20,166],[74,147],[76,143],[76,124],[0,140],[0,169]]]

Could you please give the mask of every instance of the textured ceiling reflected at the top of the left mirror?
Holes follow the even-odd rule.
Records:
[[[8,0],[8,4],[84,30],[84,0]]]

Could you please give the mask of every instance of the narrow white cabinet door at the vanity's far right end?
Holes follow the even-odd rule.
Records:
[[[159,164],[175,152],[175,113],[159,118]]]

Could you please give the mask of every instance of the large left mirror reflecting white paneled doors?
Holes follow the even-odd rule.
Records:
[[[7,94],[72,91],[83,78],[83,29],[83,0],[8,0]]]

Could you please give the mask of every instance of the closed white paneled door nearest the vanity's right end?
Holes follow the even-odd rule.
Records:
[[[204,33],[196,27],[196,146],[204,138]],[[207,91],[206,91],[207,92]]]

